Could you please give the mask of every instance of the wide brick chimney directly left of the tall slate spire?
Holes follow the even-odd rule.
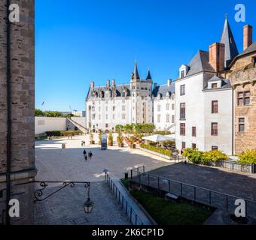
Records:
[[[209,46],[209,62],[216,72],[224,71],[225,44],[213,43]]]

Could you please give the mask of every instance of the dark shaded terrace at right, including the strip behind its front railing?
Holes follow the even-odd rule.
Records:
[[[256,219],[255,174],[177,163],[146,172],[145,175],[138,175],[135,171],[133,181],[230,213],[235,211],[236,199],[248,199],[247,214]]]

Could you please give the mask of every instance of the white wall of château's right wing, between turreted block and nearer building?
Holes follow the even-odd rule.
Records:
[[[175,132],[175,95],[171,97],[154,98],[153,103],[154,125],[156,129],[166,130],[171,127],[169,131]]]

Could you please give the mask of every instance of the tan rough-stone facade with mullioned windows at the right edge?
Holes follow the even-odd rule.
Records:
[[[233,85],[235,153],[256,148],[256,49],[237,58],[228,77]],[[239,93],[249,92],[249,104],[239,104]],[[244,118],[244,130],[239,119]],[[241,121],[241,120],[240,120]]]

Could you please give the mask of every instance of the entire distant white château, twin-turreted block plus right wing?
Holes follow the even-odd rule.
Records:
[[[115,85],[114,80],[111,84],[108,80],[106,86],[96,87],[90,83],[86,99],[87,128],[114,130],[117,124],[154,123],[158,130],[174,131],[174,83],[168,80],[163,86],[154,84],[154,89],[152,83],[150,71],[141,80],[137,65],[130,84]]]

